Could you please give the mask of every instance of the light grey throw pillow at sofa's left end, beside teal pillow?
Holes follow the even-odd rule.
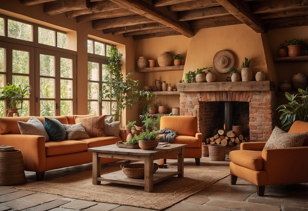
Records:
[[[49,141],[49,136],[44,125],[37,118],[31,117],[27,122],[17,121],[21,134],[44,136]]]

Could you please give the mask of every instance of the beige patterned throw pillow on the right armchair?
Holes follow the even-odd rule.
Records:
[[[286,133],[276,126],[264,149],[300,147],[306,136],[307,133]]]

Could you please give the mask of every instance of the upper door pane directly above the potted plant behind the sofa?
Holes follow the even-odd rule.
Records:
[[[29,73],[29,52],[13,50],[12,52],[12,72]]]

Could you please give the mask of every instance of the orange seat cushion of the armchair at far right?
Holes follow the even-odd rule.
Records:
[[[263,169],[262,151],[233,150],[229,153],[229,159],[233,163],[249,169]]]

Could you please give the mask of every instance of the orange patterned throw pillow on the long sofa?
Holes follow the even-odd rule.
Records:
[[[106,137],[103,130],[105,117],[106,115],[85,118],[75,117],[75,122],[76,124],[80,122],[90,137]]]

